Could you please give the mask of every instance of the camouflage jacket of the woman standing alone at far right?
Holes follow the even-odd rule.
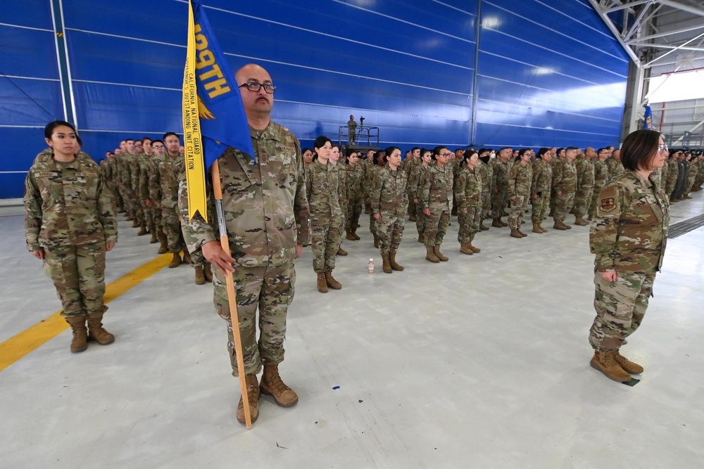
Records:
[[[599,193],[589,245],[597,271],[660,271],[670,225],[665,192],[634,171],[608,181]]]

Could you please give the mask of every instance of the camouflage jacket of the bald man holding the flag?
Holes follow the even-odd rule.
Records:
[[[263,131],[250,127],[258,164],[246,153],[227,148],[214,163],[220,169],[225,228],[234,266],[279,266],[293,262],[296,244],[308,245],[308,201],[301,144],[289,129],[270,122]],[[210,176],[208,176],[208,180]],[[179,208],[188,219],[188,191],[180,184]],[[208,187],[213,199],[213,188]],[[218,220],[210,226],[196,215],[182,223],[190,252],[219,240]]]

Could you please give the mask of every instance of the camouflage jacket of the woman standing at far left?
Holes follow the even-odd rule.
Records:
[[[25,179],[27,249],[116,243],[113,198],[100,168],[85,153],[62,165],[42,152]]]

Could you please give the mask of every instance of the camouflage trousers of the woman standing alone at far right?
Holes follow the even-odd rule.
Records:
[[[589,330],[589,343],[602,352],[616,350],[643,322],[648,300],[653,295],[655,272],[618,272],[609,282],[597,272],[594,276],[596,318]]]

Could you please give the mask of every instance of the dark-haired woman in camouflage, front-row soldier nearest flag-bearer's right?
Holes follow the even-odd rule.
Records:
[[[332,142],[319,136],[313,145],[318,159],[306,168],[306,195],[310,206],[310,248],[313,250],[313,271],[318,275],[318,291],[339,290],[342,284],[332,276],[335,256],[342,243],[344,212],[340,200],[340,179],[337,167],[330,164]]]

